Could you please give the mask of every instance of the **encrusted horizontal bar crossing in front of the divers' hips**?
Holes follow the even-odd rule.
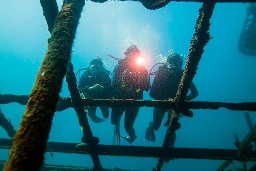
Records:
[[[26,105],[29,96],[17,96],[13,94],[0,94],[0,104],[8,104],[12,102]],[[169,109],[175,109],[174,101],[161,101],[161,100],[109,100],[109,99],[83,99],[83,105],[86,106],[107,106],[107,107],[163,107]],[[73,107],[71,98],[60,97],[56,106],[56,111],[63,111]],[[224,103],[224,102],[211,102],[211,101],[184,101],[184,109],[219,109],[224,107],[230,110],[236,111],[256,111],[256,102],[245,102],[245,103]]]

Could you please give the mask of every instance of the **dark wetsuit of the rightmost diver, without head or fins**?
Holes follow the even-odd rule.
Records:
[[[154,78],[154,81],[149,92],[154,100],[169,100],[174,99],[178,90],[183,70],[178,68],[168,68],[167,66],[160,66]],[[186,100],[192,100],[198,96],[198,90],[194,83],[190,84],[191,93],[186,97]],[[168,112],[168,117],[171,115],[171,110],[166,110],[161,107],[154,107],[153,123],[151,124],[153,130],[158,130],[164,114]]]

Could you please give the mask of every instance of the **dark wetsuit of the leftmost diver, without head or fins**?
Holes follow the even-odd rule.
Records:
[[[94,84],[100,84],[104,86],[102,91],[99,92],[91,92],[88,90],[89,87]],[[88,69],[83,73],[79,80],[79,84],[77,86],[80,93],[83,93],[86,98],[93,99],[112,99],[111,94],[111,79],[109,77],[109,72],[107,70],[103,70],[98,74],[92,75],[90,70]],[[94,106],[88,107],[88,115],[89,117],[94,117],[96,115],[96,108]],[[100,110],[102,111],[102,115],[104,118],[109,117],[109,107],[100,106]]]

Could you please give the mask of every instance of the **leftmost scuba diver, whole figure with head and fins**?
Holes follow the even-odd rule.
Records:
[[[85,70],[80,77],[80,71]],[[81,68],[79,73],[79,82],[77,88],[82,94],[82,98],[93,99],[112,99],[110,71],[106,70],[100,57],[93,59],[90,66]],[[87,107],[86,107],[87,108]],[[105,119],[96,116],[96,108],[90,106],[87,108],[88,116],[95,123],[103,122]],[[104,118],[109,117],[109,107],[100,106]]]

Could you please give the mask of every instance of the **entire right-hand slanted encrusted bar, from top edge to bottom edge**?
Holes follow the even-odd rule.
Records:
[[[213,14],[213,9],[215,7],[215,2],[212,0],[205,0],[199,9],[199,14],[196,20],[196,26],[194,30],[193,37],[190,41],[190,47],[188,52],[188,57],[186,60],[186,66],[181,78],[177,94],[175,96],[176,109],[173,110],[171,119],[168,124],[166,131],[166,136],[164,138],[163,149],[169,148],[169,142],[171,140],[173,132],[175,132],[175,124],[178,122],[178,112],[182,112],[186,116],[192,117],[192,113],[188,109],[183,109],[183,103],[188,93],[192,79],[196,74],[198,69],[198,63],[203,54],[203,48],[208,43],[210,39],[209,27],[210,19]],[[156,171],[160,171],[164,164],[164,158],[159,158],[156,165]]]

